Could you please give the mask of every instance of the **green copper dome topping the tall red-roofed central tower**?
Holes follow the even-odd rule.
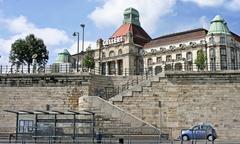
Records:
[[[125,9],[123,24],[135,24],[140,26],[138,11],[134,8]]]

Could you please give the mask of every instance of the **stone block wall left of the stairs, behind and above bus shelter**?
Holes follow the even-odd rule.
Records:
[[[88,95],[88,86],[0,87],[0,131],[9,130],[9,127],[14,131],[16,126],[16,115],[3,110],[46,110],[46,105],[50,110],[74,110],[82,95]]]

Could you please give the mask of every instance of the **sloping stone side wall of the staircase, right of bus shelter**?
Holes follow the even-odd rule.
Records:
[[[171,130],[162,131],[156,126],[143,121],[102,98],[96,96],[83,96],[81,99],[84,103],[89,104],[89,107],[84,107],[84,109],[90,109],[90,111],[95,112],[96,117],[102,117],[102,119],[99,120],[96,118],[96,126],[98,131],[103,135],[112,135],[116,138],[123,138],[127,143],[136,144],[144,142],[159,143],[161,138],[163,139],[161,136],[164,135],[168,135],[165,137],[165,140],[171,140],[172,138]],[[104,119],[108,118],[110,118],[110,121],[104,124]]]

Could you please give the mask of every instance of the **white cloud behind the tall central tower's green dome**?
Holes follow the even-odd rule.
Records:
[[[153,32],[161,17],[172,12],[176,0],[105,0],[101,6],[89,15],[98,27],[120,26],[123,12],[128,7],[136,8],[140,13],[140,22],[144,29]]]

